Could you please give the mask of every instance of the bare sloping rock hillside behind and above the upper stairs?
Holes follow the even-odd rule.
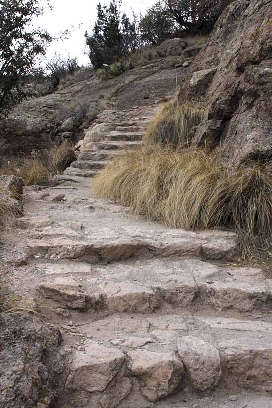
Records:
[[[79,78],[74,83],[72,78],[70,84],[52,94],[23,101],[0,126],[0,156],[47,148],[52,141],[61,138],[76,141],[82,138],[82,129],[88,128],[99,110],[113,106],[117,109],[146,106],[165,93],[173,94],[177,89],[175,64],[178,64],[177,76],[181,82],[191,57],[200,48],[186,47],[180,39],[168,40],[155,50],[144,50],[135,55],[135,68],[122,75],[100,81],[94,72],[89,72],[86,79]],[[186,67],[182,66],[184,62],[188,62]],[[79,123],[62,127],[70,117]]]

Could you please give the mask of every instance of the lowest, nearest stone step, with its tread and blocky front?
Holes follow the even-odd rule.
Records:
[[[271,323],[190,315],[133,319],[113,315],[85,323],[82,330],[86,335],[70,356],[62,406],[114,408],[123,401],[122,407],[145,408],[176,394],[174,403],[168,398],[169,405],[159,407],[184,408],[184,395],[190,393],[189,401],[198,398],[201,403],[205,394],[200,393],[211,395],[215,389],[216,395],[217,386],[221,395],[224,387],[228,395],[237,393],[227,399],[229,404],[237,401],[231,407],[248,406],[248,389],[263,392],[265,401],[272,401],[267,395],[272,392]],[[69,331],[64,336],[72,337]],[[259,401],[262,398],[260,394]]]

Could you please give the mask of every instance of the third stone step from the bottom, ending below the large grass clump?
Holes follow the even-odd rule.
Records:
[[[91,162],[86,162],[91,163]],[[153,256],[196,256],[203,259],[231,260],[237,256],[236,235],[227,231],[204,231],[201,233],[166,229],[141,233],[132,227],[91,228],[74,238],[74,231],[66,228],[59,238],[57,228],[39,231],[40,239],[28,243],[33,256],[51,260],[81,259],[90,263],[107,263],[135,256],[148,259]],[[59,234],[58,234],[59,235]]]

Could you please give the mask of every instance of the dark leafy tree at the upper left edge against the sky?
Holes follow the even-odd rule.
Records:
[[[52,41],[46,30],[33,29],[33,17],[43,13],[39,0],[0,0],[0,118],[24,94],[23,75],[29,74],[45,46]]]

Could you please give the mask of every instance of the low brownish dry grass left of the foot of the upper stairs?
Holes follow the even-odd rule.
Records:
[[[63,142],[50,150],[33,150],[30,157],[2,160],[0,175],[21,177],[25,185],[35,185],[50,180],[76,160],[73,146]]]

